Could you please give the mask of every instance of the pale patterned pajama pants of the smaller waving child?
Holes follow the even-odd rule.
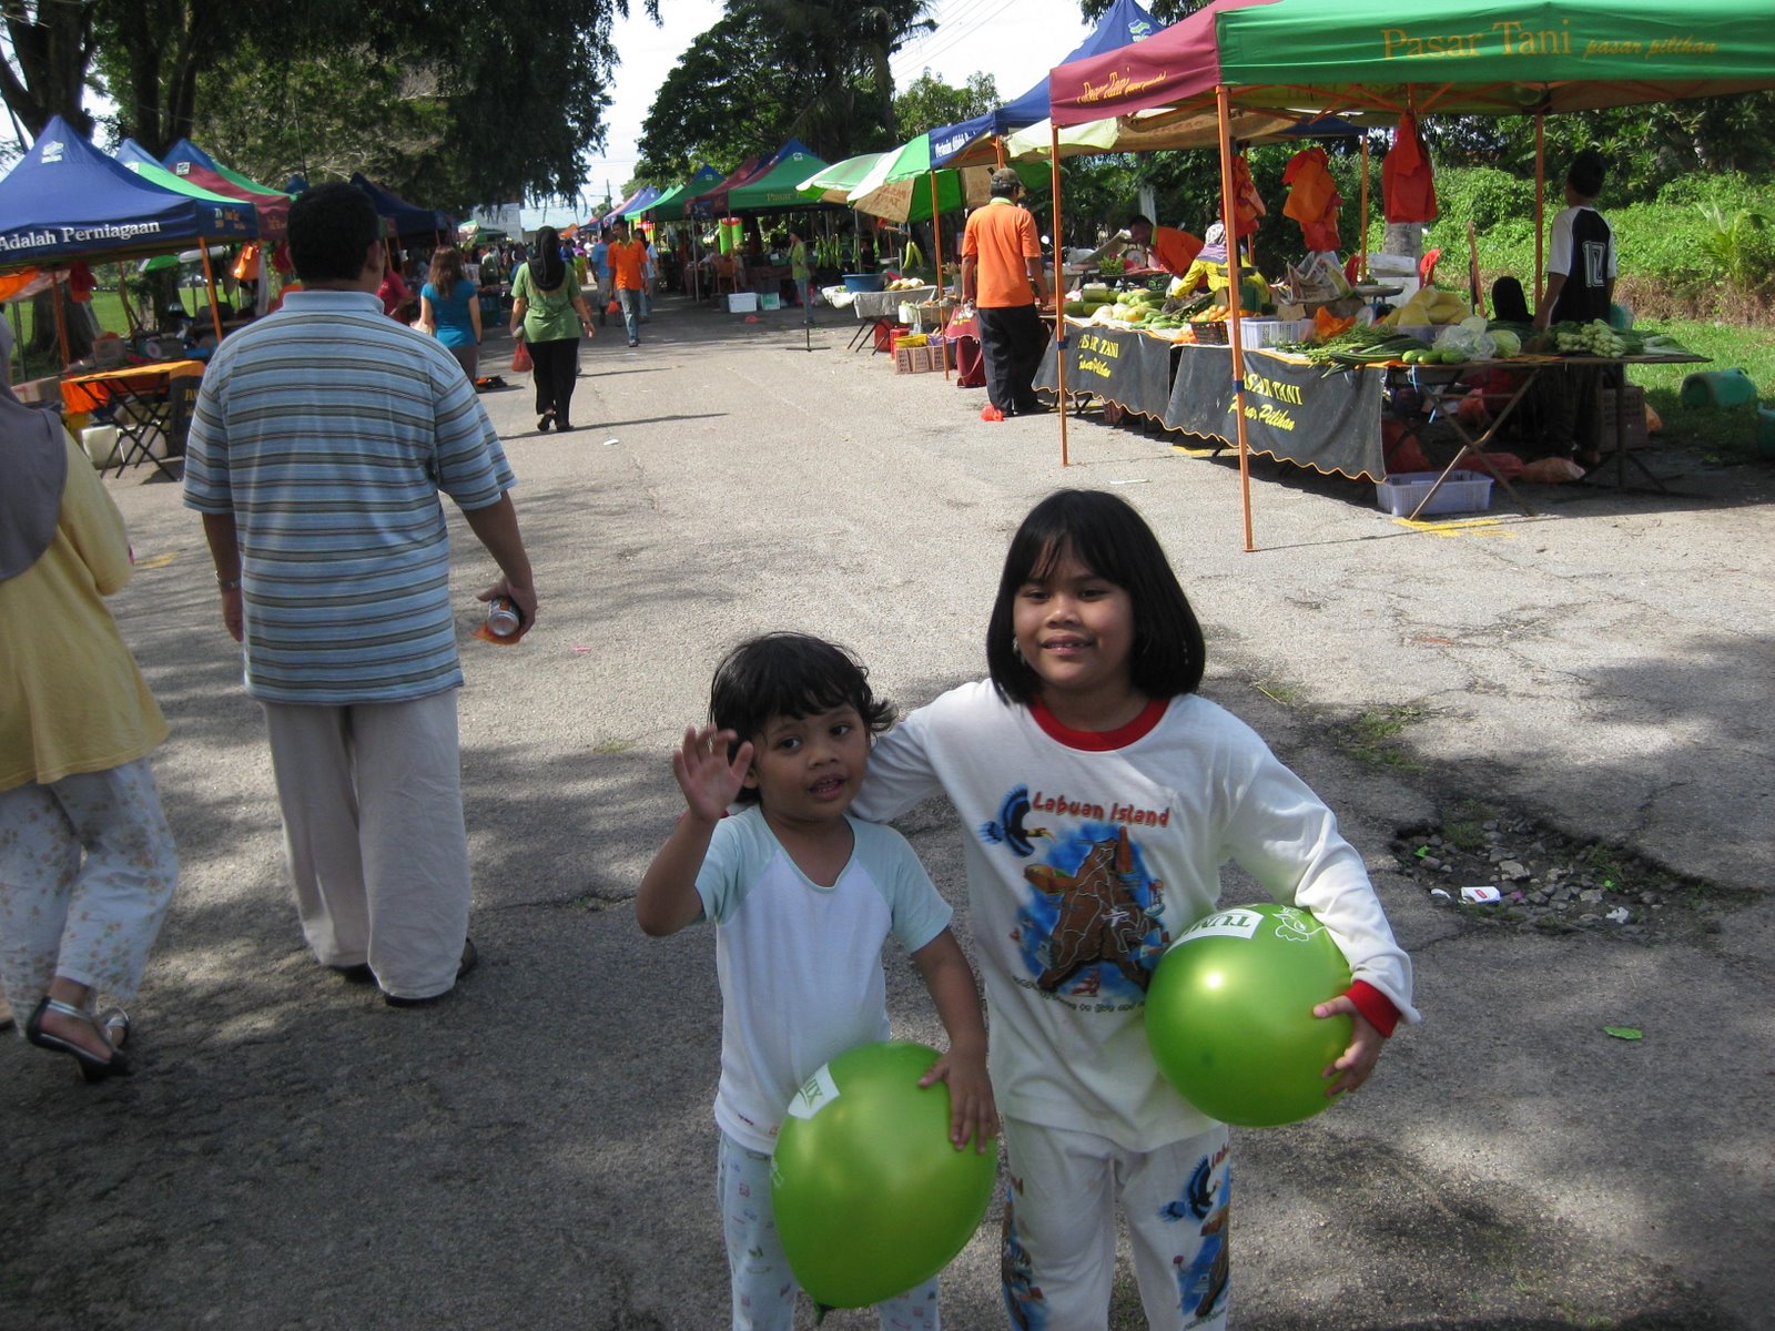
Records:
[[[790,1274],[770,1210],[770,1157],[722,1132],[715,1191],[728,1239],[733,1331],[790,1331],[799,1285]],[[875,1313],[882,1331],[941,1331],[935,1278],[875,1304]]]

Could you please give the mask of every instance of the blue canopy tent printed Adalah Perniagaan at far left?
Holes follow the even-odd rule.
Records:
[[[250,204],[165,190],[99,153],[60,115],[50,117],[37,142],[0,179],[0,272],[131,259],[195,245],[218,339],[222,316],[208,241],[257,234]]]

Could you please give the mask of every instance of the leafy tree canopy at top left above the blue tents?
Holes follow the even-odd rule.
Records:
[[[32,133],[55,114],[91,130],[96,83],[119,137],[151,153],[208,115],[266,179],[311,154],[316,174],[350,160],[449,206],[564,195],[602,144],[618,14],[628,0],[456,0],[447,14],[428,0],[0,0],[14,55],[0,96]]]

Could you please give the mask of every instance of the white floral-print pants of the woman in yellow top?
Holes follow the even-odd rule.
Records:
[[[146,758],[0,792],[0,981],[20,1028],[55,976],[133,999],[178,877]]]

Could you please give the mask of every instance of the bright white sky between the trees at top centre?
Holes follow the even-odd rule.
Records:
[[[580,201],[525,208],[525,229],[584,220],[604,201],[605,183],[621,202],[621,188],[641,158],[641,124],[653,106],[653,94],[685,48],[721,20],[721,0],[660,0],[660,25],[655,27],[641,12],[641,0],[630,0],[630,18],[612,25],[621,64],[605,114],[609,137],[604,154],[586,160]],[[896,89],[905,89],[925,69],[955,87],[982,73],[992,75],[999,96],[1010,101],[1045,76],[1090,32],[1079,18],[1077,0],[934,0],[930,14],[937,30],[893,60]]]

